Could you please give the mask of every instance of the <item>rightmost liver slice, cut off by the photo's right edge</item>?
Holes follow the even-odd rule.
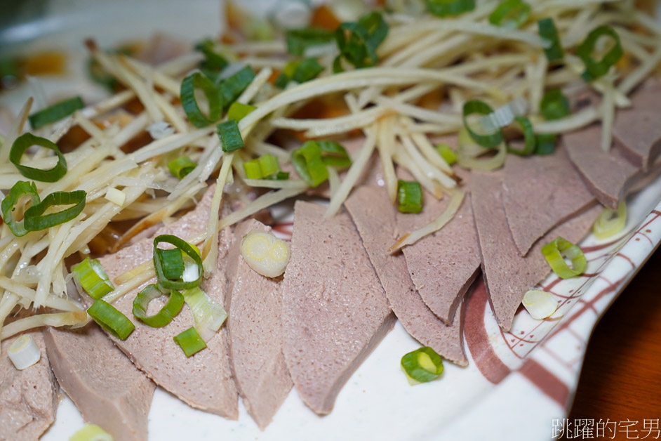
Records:
[[[661,100],[661,96],[658,99]],[[647,171],[661,153],[661,103],[657,105],[657,110],[637,107],[621,110],[613,125],[615,144],[643,171]]]

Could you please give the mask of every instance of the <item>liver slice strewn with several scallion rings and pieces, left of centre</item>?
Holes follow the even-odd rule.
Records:
[[[186,239],[206,228],[211,190],[201,199],[196,209],[179,221],[158,231],[159,235],[171,234]],[[220,304],[225,303],[225,264],[230,234],[223,231],[220,237],[218,267],[213,276],[202,282],[201,288]],[[100,259],[111,279],[152,259],[152,239],[145,239],[115,254]],[[146,284],[154,283],[151,279]],[[185,306],[182,312],[164,328],[152,328],[133,317],[133,298],[145,285],[126,294],[113,305],[135,324],[135,331],[126,341],[113,338],[115,344],[126,353],[131,361],[156,384],[173,393],[196,409],[236,419],[239,416],[238,395],[232,380],[227,350],[227,331],[220,329],[218,335],[207,342],[208,348],[186,358],[173,336],[192,327],[193,317]]]

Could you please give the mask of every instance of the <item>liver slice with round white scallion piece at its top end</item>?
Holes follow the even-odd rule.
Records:
[[[282,353],[280,280],[252,270],[241,257],[241,237],[271,228],[245,221],[234,230],[227,259],[229,360],[248,413],[263,430],[292,387]]]

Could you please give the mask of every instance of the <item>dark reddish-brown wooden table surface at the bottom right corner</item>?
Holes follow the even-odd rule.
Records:
[[[661,249],[597,324],[568,418],[639,421],[629,439],[648,435],[644,420],[661,419]],[[615,439],[627,436],[618,430]]]

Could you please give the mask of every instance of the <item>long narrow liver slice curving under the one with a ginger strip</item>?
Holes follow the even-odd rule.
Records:
[[[446,359],[467,365],[461,317],[454,320],[452,326],[446,326],[422,301],[408,274],[403,254],[392,255],[387,251],[396,240],[396,219],[385,188],[356,188],[345,206],[358,228],[390,307],[404,329]]]

